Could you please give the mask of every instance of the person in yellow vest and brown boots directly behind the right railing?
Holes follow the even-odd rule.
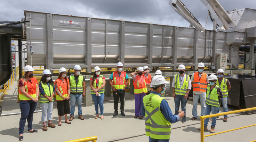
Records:
[[[220,107],[220,98],[222,98],[222,92],[219,86],[216,85],[217,82],[217,76],[212,74],[209,76],[209,83],[207,85],[206,90],[206,108],[205,108],[205,115],[216,114],[219,107]],[[215,125],[216,125],[216,117],[212,117],[212,126],[210,133],[214,133]],[[204,131],[208,131],[207,125],[209,122],[209,118],[206,118],[204,120]],[[198,130],[201,130],[201,128],[198,128]]]

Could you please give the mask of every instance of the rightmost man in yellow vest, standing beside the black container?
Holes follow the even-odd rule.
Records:
[[[220,101],[222,102],[223,112],[227,112],[228,111],[228,91],[231,89],[231,85],[229,80],[223,77],[224,71],[222,69],[219,69],[217,73],[218,73],[218,80],[216,85],[220,86],[220,89],[223,95],[223,98],[221,98]],[[220,110],[218,109],[217,113],[219,112]],[[224,122],[228,121],[228,115],[224,115],[223,121]]]

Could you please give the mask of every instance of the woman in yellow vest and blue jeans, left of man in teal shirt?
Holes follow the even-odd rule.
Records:
[[[94,108],[96,111],[95,119],[99,117],[99,106],[100,106],[100,119],[104,119],[103,117],[103,100],[104,100],[104,92],[105,92],[105,77],[100,75],[100,67],[94,67],[94,74],[90,78],[90,86],[91,86],[91,95],[94,102]]]

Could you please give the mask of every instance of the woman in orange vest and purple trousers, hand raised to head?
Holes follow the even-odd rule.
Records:
[[[135,98],[135,116],[134,118],[139,117],[140,119],[143,118],[142,115],[142,100],[143,97],[146,96],[146,93],[148,92],[147,86],[146,86],[146,78],[143,75],[143,68],[138,67],[138,72],[132,72],[131,77],[133,78],[133,86],[134,86],[134,98]],[[135,76],[137,75],[137,76]]]

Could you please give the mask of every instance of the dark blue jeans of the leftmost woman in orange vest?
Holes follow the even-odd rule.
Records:
[[[36,110],[37,102],[29,100],[22,101],[20,100],[20,128],[19,134],[23,134],[26,120],[28,121],[28,130],[32,130],[32,122],[33,122],[33,113]]]

